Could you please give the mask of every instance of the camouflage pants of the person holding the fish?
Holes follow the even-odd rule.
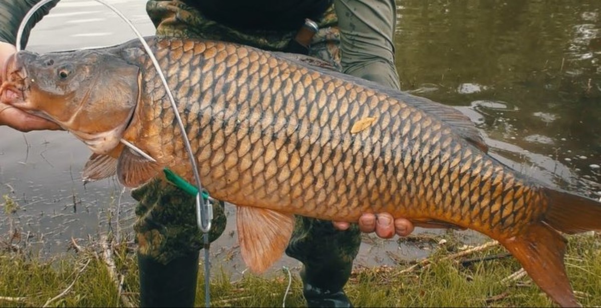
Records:
[[[271,51],[284,49],[294,35],[290,31],[242,32],[232,29],[207,19],[200,11],[178,0],[150,0],[147,11],[157,28],[157,35],[224,40]],[[313,38],[310,55],[340,69],[340,40],[333,7],[325,12],[318,24],[320,30]],[[139,201],[134,229],[140,254],[168,263],[200,250],[203,238],[196,227],[195,202],[191,196],[159,179],[136,189],[132,196]],[[215,205],[214,217],[210,241],[218,238],[225,228],[222,204]],[[338,231],[331,221],[298,216],[286,253],[317,271],[343,267],[345,272],[350,272],[360,243],[361,236],[355,225],[350,230]],[[341,285],[334,288],[341,288],[347,275],[340,280]]]

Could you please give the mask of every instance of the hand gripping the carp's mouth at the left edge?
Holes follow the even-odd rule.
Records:
[[[4,72],[8,58],[16,52],[16,48],[9,43],[0,42],[0,72]],[[0,73],[0,83],[2,74]],[[10,94],[8,94],[10,95]],[[22,132],[40,131],[43,129],[61,129],[56,123],[41,117],[28,114],[13,106],[7,105],[0,99],[0,125],[8,125]]]

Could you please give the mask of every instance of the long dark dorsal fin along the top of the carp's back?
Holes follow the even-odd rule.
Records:
[[[469,141],[469,143],[473,144],[475,147],[478,147],[478,149],[482,150],[484,153],[488,152],[488,146],[486,145],[486,143],[484,143],[484,139],[480,135],[480,132],[478,132],[478,129],[474,125],[474,122],[472,122],[468,116],[462,114],[461,111],[451,106],[433,102],[432,100],[427,99],[425,97],[419,97],[404,91],[399,91],[393,88],[385,87],[376,82],[368,81],[367,79],[362,79],[359,77],[337,72],[336,70],[334,70],[334,67],[329,66],[328,63],[325,63],[320,60],[316,61],[314,60],[314,58],[309,56],[284,53],[274,53],[274,55],[276,57],[283,58],[284,60],[287,60],[291,63],[297,64],[298,66],[306,67],[310,70],[316,70],[317,72],[323,73],[325,75],[334,76],[335,78],[340,78],[345,81],[352,82],[353,84],[387,94],[388,96],[391,96],[394,99],[407,103],[407,105],[410,105],[417,109],[421,109],[430,116],[434,116],[438,120],[441,120],[442,122],[445,122],[448,125],[450,125],[451,128],[453,128],[453,131],[456,132],[456,134],[459,134],[461,137],[465,138],[465,140]]]

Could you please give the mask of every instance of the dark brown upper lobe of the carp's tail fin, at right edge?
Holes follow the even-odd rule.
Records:
[[[601,202],[563,191],[545,191],[549,202],[543,221],[555,230],[574,234],[601,230]]]

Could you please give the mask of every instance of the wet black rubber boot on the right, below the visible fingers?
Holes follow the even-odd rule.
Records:
[[[352,265],[352,264],[351,264]],[[352,266],[335,264],[319,269],[303,266],[301,279],[308,307],[352,307],[343,291]]]

